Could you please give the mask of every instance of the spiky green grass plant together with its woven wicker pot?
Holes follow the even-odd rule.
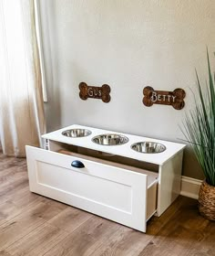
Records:
[[[215,74],[211,73],[207,50],[209,82],[200,83],[197,77],[197,98],[195,107],[186,114],[183,133],[194,150],[205,179],[200,186],[200,214],[215,220]]]

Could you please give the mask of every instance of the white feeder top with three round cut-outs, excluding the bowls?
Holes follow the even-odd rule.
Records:
[[[86,137],[76,137],[76,138],[67,137],[62,134],[62,132],[67,131],[69,129],[79,129],[79,128],[87,129],[91,132],[91,134]],[[125,135],[128,137],[129,141],[127,144],[120,144],[120,145],[101,145],[101,144],[95,144],[94,142],[92,142],[93,137],[99,134],[104,134],[104,133],[117,133],[117,134]],[[93,150],[97,150],[97,151],[101,151],[109,154],[121,155],[121,156],[137,159],[139,161],[148,162],[156,165],[163,165],[166,161],[168,161],[174,155],[178,154],[186,146],[186,144],[178,144],[178,143],[172,143],[168,141],[162,141],[158,139],[142,137],[142,136],[127,134],[127,133],[107,131],[103,129],[97,129],[93,127],[78,125],[78,124],[67,126],[65,128],[56,130],[52,133],[46,133],[42,135],[42,138],[65,143],[65,144],[74,144],[77,146],[82,146],[82,147],[90,148]],[[138,142],[156,142],[156,143],[165,145],[166,150],[164,152],[157,153],[157,154],[139,153],[131,149],[131,145]]]

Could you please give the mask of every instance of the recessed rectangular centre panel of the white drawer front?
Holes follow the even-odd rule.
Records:
[[[80,172],[39,161],[36,165],[36,176],[40,185],[131,213],[132,189],[128,185],[91,176],[85,171]]]

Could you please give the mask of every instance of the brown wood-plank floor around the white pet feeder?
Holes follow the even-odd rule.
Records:
[[[26,160],[0,154],[0,255],[215,255],[215,222],[179,197],[144,234],[29,192]]]

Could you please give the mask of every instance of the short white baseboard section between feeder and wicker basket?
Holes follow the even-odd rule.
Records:
[[[202,180],[200,179],[189,176],[181,176],[180,195],[198,199],[201,182]]]

